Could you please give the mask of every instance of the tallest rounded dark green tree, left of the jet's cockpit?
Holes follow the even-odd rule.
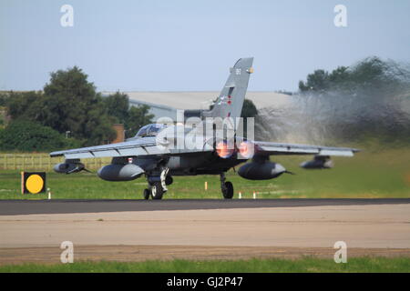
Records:
[[[51,73],[44,87],[44,115],[37,120],[58,132],[70,131],[85,145],[96,145],[115,138],[114,121],[101,105],[101,96],[87,75],[77,66]]]

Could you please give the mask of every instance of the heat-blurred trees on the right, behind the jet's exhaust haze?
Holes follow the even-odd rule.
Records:
[[[318,69],[299,82],[298,96],[306,115],[334,136],[410,141],[409,64],[372,56],[332,72]]]

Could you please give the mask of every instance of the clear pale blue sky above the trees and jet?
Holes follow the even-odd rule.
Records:
[[[409,12],[410,0],[0,0],[0,90],[41,90],[77,65],[98,91],[219,91],[254,56],[249,90],[295,91],[366,56],[410,62]]]

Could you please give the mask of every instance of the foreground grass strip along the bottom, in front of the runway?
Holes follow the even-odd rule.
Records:
[[[0,273],[5,272],[141,272],[141,273],[318,273],[318,272],[410,272],[410,258],[397,257],[354,257],[346,264],[336,264],[331,259],[302,257],[296,260],[286,259],[250,259],[236,261],[146,261],[138,263],[123,262],[77,262],[74,264],[24,264],[0,266]]]

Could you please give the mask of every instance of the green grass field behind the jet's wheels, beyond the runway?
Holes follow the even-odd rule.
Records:
[[[296,175],[282,175],[268,181],[242,179],[228,173],[243,198],[258,192],[260,198],[410,197],[410,149],[364,151],[354,157],[335,157],[330,170],[304,170],[299,164],[310,156],[272,156]],[[208,182],[208,190],[204,183]],[[129,182],[107,182],[96,174],[60,175],[47,173],[47,187],[53,199],[141,199],[147,186],[141,177]],[[167,198],[220,198],[219,176],[175,176]],[[46,194],[20,194],[20,172],[0,171],[0,199],[45,199]]]

